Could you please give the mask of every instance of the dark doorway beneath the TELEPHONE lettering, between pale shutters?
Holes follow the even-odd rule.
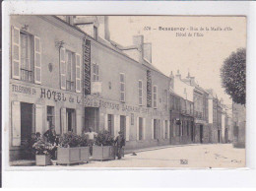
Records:
[[[32,136],[33,109],[31,103],[21,102],[21,144],[26,145]]]

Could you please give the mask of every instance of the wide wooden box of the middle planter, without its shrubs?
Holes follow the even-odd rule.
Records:
[[[89,161],[89,147],[81,148],[58,148],[57,163],[71,164]]]

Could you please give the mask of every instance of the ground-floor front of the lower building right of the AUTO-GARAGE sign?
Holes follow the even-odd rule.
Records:
[[[116,136],[122,131],[126,138],[126,149],[169,144],[168,113],[96,96],[86,96],[84,105],[86,110],[96,111],[93,117],[85,117],[86,124],[87,120],[94,118],[91,127],[96,132],[104,129]]]

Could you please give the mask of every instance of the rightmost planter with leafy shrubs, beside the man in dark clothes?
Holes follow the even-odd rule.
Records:
[[[115,159],[114,137],[106,130],[97,134],[93,149],[93,159]]]

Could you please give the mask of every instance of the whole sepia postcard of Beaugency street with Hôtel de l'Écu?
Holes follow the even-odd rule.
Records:
[[[11,15],[9,166],[245,167],[245,16]]]

